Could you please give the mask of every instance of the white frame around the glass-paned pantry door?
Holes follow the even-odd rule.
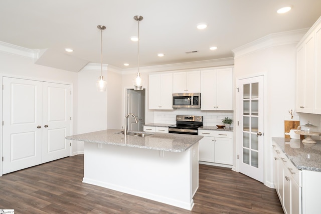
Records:
[[[266,176],[269,176],[269,173],[267,168],[269,166],[268,162],[269,162],[269,157],[270,157],[270,148],[269,148],[269,141],[267,139],[267,137],[269,136],[268,134],[266,134],[266,127],[267,127],[267,97],[268,97],[268,94],[267,94],[267,73],[266,72],[261,72],[261,73],[256,73],[256,74],[252,74],[252,75],[246,75],[246,76],[240,76],[240,77],[237,77],[235,80],[235,86],[236,86],[236,95],[235,95],[235,112],[234,112],[234,117],[236,118],[236,121],[239,121],[239,118],[240,118],[240,115],[242,115],[242,112],[240,111],[240,102],[239,102],[239,99],[241,98],[241,95],[238,93],[238,89],[239,89],[239,81],[240,80],[243,80],[243,79],[249,79],[249,78],[255,78],[255,77],[260,77],[260,76],[263,76],[263,84],[264,84],[264,87],[263,87],[263,149],[264,149],[264,152],[263,152],[263,184],[266,185],[266,180],[269,180],[266,178]],[[235,122],[236,122],[235,121]],[[239,129],[239,126],[237,125],[237,122],[236,124],[234,125],[234,128],[235,128],[235,133],[234,133],[234,139],[235,139],[235,152],[236,152],[236,161],[235,161],[235,171],[237,172],[240,172],[239,171],[239,161],[241,161],[240,159],[238,159],[238,156],[239,156],[239,149],[240,149],[240,139],[239,139],[239,135],[240,135],[240,129]],[[265,134],[264,134],[265,133]],[[270,185],[267,185],[267,186],[270,186]]]

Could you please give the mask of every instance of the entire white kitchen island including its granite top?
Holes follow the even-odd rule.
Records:
[[[85,143],[83,182],[188,210],[199,185],[201,138],[152,133],[127,135],[125,141],[116,129],[66,137]]]

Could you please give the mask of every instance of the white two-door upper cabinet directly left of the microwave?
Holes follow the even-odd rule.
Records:
[[[149,75],[149,109],[171,110],[173,73]]]

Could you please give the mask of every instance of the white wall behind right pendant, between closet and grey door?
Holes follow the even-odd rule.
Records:
[[[108,71],[107,71],[108,70]],[[96,81],[100,76],[100,64],[88,64],[78,72],[78,128],[77,134],[121,128],[121,74],[115,68],[103,65],[106,92],[98,92]],[[77,142],[74,154],[84,151],[84,142]]]

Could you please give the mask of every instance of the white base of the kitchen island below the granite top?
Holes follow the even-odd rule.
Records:
[[[83,182],[191,210],[198,189],[198,143],[169,152],[85,142]]]

